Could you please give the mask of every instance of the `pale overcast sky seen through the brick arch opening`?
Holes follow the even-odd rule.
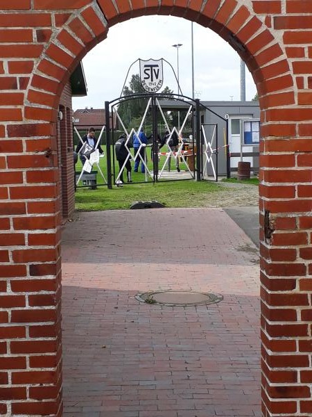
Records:
[[[203,101],[240,100],[240,58],[219,35],[193,24],[195,98]],[[121,95],[130,65],[138,58],[164,58],[177,72],[177,49],[180,43],[179,78],[182,94],[192,95],[191,22],[172,16],[146,16],[112,26],[107,38],[83,58],[87,80],[87,97],[73,98],[73,108],[103,108],[105,101]],[[139,63],[130,70],[139,74]],[[245,68],[246,99],[257,90]],[[164,63],[164,84],[177,93],[177,82],[171,67]]]

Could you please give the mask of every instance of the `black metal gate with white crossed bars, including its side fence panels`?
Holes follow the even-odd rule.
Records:
[[[121,111],[122,106],[131,100],[141,104],[140,116],[135,121],[131,117],[127,119]],[[221,148],[226,153],[229,172],[228,140],[226,136],[225,145],[218,145],[218,124],[205,124],[206,111],[214,113],[198,99],[173,94],[135,94],[105,101],[105,126],[96,140],[96,148],[101,141],[104,142],[106,149],[102,145],[101,152],[106,150],[106,157],[101,160],[101,166],[98,153],[89,157],[81,172],[76,172],[76,186],[118,186],[124,181],[125,172],[131,170],[133,174],[137,165],[141,165],[141,169],[132,175],[129,182],[218,181],[218,152]],[[222,116],[214,115],[227,122]],[[147,133],[147,142],[140,138],[143,128]],[[76,127],[74,130],[83,144]],[[122,160],[119,158],[117,161],[116,142],[121,135],[125,137],[124,152]],[[177,145],[173,145],[174,137],[177,138]],[[128,179],[127,175],[125,183]]]

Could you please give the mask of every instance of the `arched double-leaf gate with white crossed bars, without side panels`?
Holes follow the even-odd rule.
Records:
[[[146,103],[136,124],[129,123],[120,112],[120,107],[130,100]],[[173,112],[177,117],[173,117]],[[123,179],[125,167],[129,167],[128,161],[132,165],[135,161],[141,165],[141,170],[132,175],[135,183],[202,179],[199,100],[164,94],[124,96],[105,101],[105,120],[109,188]],[[147,144],[140,138],[142,130],[147,131]],[[125,136],[126,156],[123,163],[117,163],[115,144],[122,134]],[[136,146],[133,143],[135,136]],[[174,136],[178,139],[175,146]]]

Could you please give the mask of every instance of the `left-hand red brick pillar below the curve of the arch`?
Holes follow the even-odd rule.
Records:
[[[7,140],[25,152],[0,157],[1,177],[11,183],[0,202],[0,390],[10,400],[0,410],[10,416],[61,412],[60,189],[56,140],[44,138],[53,131],[52,124],[10,124]]]

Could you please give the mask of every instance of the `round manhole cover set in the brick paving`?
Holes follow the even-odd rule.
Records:
[[[220,294],[197,293],[195,291],[150,291],[140,293],[137,300],[146,304],[164,304],[166,306],[198,306],[223,300]]]

